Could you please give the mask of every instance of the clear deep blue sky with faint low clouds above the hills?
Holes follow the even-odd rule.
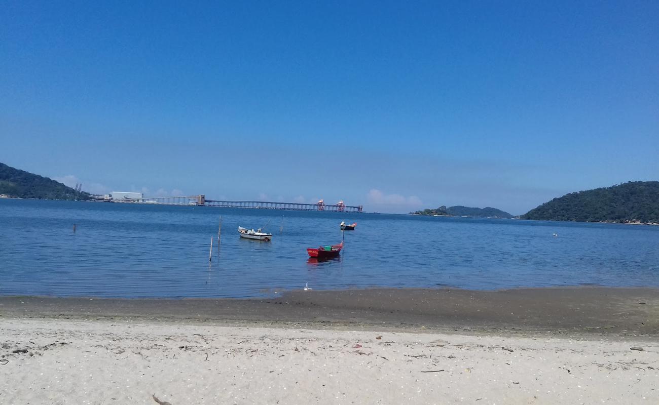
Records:
[[[0,161],[383,212],[659,178],[659,3],[280,3],[4,1]]]

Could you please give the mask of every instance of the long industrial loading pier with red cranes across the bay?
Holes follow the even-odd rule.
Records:
[[[345,205],[343,201],[335,204],[326,204],[323,200],[315,204],[295,202],[272,201],[221,201],[207,200],[204,194],[198,196],[152,197],[152,198],[125,198],[112,200],[122,203],[167,204],[167,205],[203,205],[206,207],[230,207],[253,209],[289,209],[293,211],[336,211],[336,212],[362,212],[362,205]]]

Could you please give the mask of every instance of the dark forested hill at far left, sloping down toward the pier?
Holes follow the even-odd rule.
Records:
[[[0,163],[0,194],[18,198],[47,198],[49,200],[87,200],[86,192],[76,193],[51,178],[34,175],[19,169],[14,169]]]

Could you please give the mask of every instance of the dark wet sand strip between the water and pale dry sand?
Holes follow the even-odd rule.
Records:
[[[563,337],[659,337],[654,288],[292,291],[268,299],[1,297],[3,317]]]

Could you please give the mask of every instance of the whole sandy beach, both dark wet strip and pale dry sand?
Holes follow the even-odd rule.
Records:
[[[655,404],[658,298],[606,288],[314,292],[282,304],[5,297],[0,403]],[[509,300],[528,308],[501,318],[511,312],[494,303]],[[530,321],[534,311],[546,319]]]

